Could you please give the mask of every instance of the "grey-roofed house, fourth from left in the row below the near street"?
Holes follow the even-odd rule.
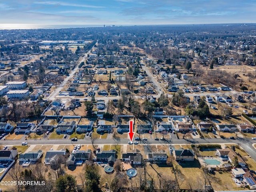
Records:
[[[66,164],[67,165],[82,165],[83,162],[88,160],[92,155],[92,151],[90,149],[85,151],[76,151],[75,153],[70,154],[68,157]]]

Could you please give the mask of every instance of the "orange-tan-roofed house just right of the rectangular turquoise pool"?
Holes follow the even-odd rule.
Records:
[[[246,163],[240,156],[238,156],[232,149],[226,148],[226,149],[217,149],[216,150],[216,155],[219,156],[220,158],[229,160],[230,162],[233,162],[234,157],[236,156],[238,158],[238,164],[241,167],[245,167]]]

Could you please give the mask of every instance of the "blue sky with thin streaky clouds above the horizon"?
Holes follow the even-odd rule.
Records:
[[[256,23],[256,0],[0,0],[0,24]]]

